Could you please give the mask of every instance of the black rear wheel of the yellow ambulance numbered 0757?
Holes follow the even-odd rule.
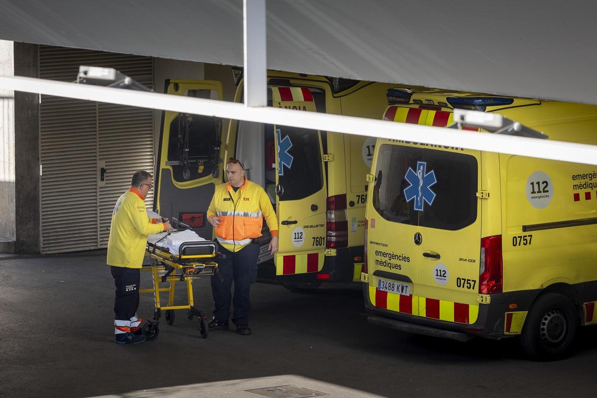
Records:
[[[558,360],[571,353],[578,313],[568,297],[546,293],[531,306],[521,333],[524,351],[536,360]]]

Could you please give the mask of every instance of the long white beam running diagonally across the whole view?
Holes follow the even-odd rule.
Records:
[[[80,85],[45,79],[0,76],[0,88],[78,98],[79,100],[217,116],[226,119],[344,132],[369,137],[393,138],[395,140],[597,165],[597,146],[564,141],[484,134],[450,128],[274,107],[246,107],[244,104],[227,101]],[[380,118],[382,112],[383,110],[380,110]]]

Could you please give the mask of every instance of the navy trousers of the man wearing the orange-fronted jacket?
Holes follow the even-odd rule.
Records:
[[[223,280],[214,274],[211,276],[211,292],[214,295],[214,317],[218,322],[228,322],[230,317],[230,301],[232,294],[232,282],[234,282],[234,299],[232,304],[234,313],[232,323],[235,325],[248,325],[251,312],[251,300],[249,291],[251,283],[255,283],[257,277],[257,255],[259,245],[249,243],[238,252],[231,252],[220,246],[222,254],[226,258],[217,260]]]

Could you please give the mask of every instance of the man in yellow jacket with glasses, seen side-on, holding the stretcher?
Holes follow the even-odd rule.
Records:
[[[118,344],[143,343],[137,318],[139,270],[143,264],[147,235],[170,231],[170,221],[147,216],[145,196],[153,188],[151,175],[143,170],[133,174],[131,188],[116,201],[110,224],[107,264],[116,286],[114,333]]]

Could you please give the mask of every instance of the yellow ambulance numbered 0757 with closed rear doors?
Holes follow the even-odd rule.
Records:
[[[597,143],[595,106],[438,90],[388,99],[388,121],[446,127],[468,109]],[[370,323],[460,341],[519,336],[531,357],[553,359],[597,322],[595,166],[379,139],[367,180]]]

